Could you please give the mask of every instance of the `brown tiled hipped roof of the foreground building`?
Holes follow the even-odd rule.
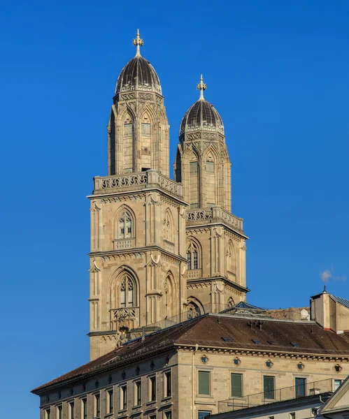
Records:
[[[257,322],[257,323],[255,323]],[[259,324],[259,326],[257,325]],[[223,340],[222,338],[228,338]],[[259,341],[260,343],[255,343]],[[152,351],[177,345],[215,346],[269,352],[343,355],[349,357],[349,344],[343,336],[324,330],[315,322],[278,321],[274,319],[235,318],[229,315],[206,314],[192,321],[154,332],[129,341],[121,348],[97,358],[73,371],[32,390],[37,392],[50,385],[80,378],[98,369],[119,362],[139,359]],[[294,346],[292,344],[297,344]]]

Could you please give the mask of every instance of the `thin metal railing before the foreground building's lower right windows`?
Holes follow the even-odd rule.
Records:
[[[305,385],[292,385],[244,397],[231,397],[218,402],[218,413],[247,409],[248,407],[260,406],[261,404],[283,402],[299,397],[319,395],[324,392],[333,392],[334,390],[336,390],[334,379],[327,378],[321,381],[314,381],[313,383],[306,383]]]

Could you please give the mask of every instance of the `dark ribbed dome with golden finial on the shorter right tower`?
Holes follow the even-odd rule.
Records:
[[[206,84],[202,81],[202,75],[197,88],[200,90],[199,101],[190,106],[185,113],[180,124],[180,135],[191,131],[215,131],[224,134],[225,128],[220,114],[212,103],[204,99],[203,91]]]

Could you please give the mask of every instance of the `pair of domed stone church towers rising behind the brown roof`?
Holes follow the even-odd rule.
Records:
[[[225,131],[200,97],[180,124],[169,177],[169,123],[159,77],[136,56],[117,79],[108,176],[91,200],[90,355],[127,339],[245,301],[242,219],[231,212]]]

